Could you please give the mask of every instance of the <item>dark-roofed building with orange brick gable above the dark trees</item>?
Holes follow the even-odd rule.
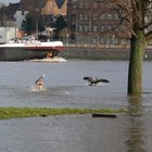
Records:
[[[52,17],[50,20],[52,22],[59,15],[66,17],[66,3],[67,0],[21,0],[20,7],[14,14],[17,27],[21,27],[22,21],[28,12],[45,16],[47,20]]]

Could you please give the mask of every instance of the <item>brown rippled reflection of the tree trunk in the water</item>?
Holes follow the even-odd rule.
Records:
[[[145,152],[143,106],[140,98],[129,98],[127,152]]]

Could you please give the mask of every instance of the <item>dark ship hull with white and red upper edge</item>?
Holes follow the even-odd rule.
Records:
[[[54,45],[54,46],[53,46]],[[0,45],[0,61],[25,61],[54,58],[65,48],[60,42]]]

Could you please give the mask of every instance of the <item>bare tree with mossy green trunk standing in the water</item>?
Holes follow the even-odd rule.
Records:
[[[112,0],[123,13],[121,22],[128,22],[130,30],[130,59],[128,94],[142,93],[142,61],[148,41],[152,38],[152,0]]]

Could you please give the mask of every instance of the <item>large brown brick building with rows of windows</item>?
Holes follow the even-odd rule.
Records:
[[[125,39],[128,37],[124,28],[126,25],[117,28],[119,18],[110,1],[69,0],[67,20],[72,42],[105,46],[128,43]]]

